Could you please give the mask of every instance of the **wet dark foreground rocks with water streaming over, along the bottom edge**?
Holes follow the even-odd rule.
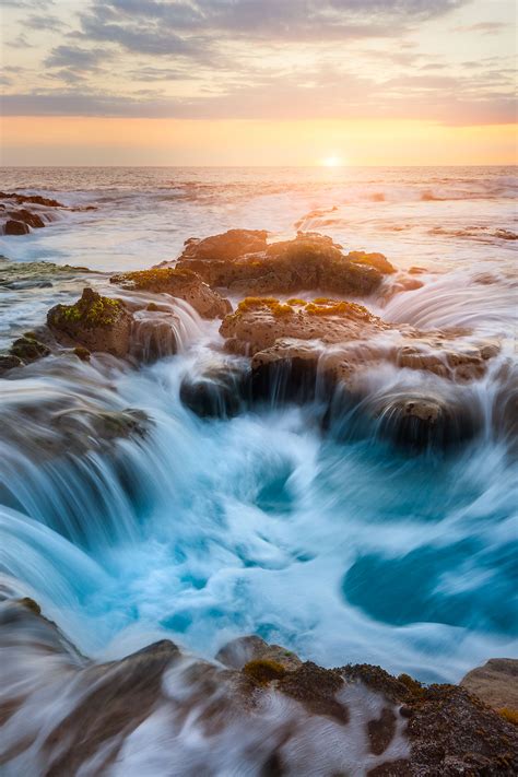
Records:
[[[31,773],[76,774],[92,764],[102,773],[115,763],[125,770],[138,752],[142,770],[156,774],[172,757],[192,775],[208,764],[217,774],[370,777],[518,769],[518,729],[466,688],[425,686],[368,664],[322,669],[258,637],[231,643],[216,662],[164,639],[94,663],[24,598],[0,604],[0,644],[8,768],[23,757]],[[42,697],[56,699],[43,735],[30,714]]]

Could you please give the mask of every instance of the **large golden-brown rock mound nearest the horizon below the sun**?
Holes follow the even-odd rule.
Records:
[[[211,286],[257,295],[311,290],[367,295],[384,273],[395,271],[380,254],[345,255],[330,237],[316,233],[268,245],[267,233],[247,229],[188,240],[177,267],[195,270]]]

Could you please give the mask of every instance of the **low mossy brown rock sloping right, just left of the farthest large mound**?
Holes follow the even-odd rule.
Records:
[[[214,292],[191,270],[153,268],[137,272],[125,272],[110,278],[125,289],[170,294],[185,299],[202,318],[224,318],[231,310],[228,299]]]

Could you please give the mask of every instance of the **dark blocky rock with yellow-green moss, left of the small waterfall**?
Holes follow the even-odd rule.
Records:
[[[79,343],[90,351],[126,356],[130,350],[132,317],[119,299],[84,289],[73,305],[56,305],[47,323],[63,344]]]

